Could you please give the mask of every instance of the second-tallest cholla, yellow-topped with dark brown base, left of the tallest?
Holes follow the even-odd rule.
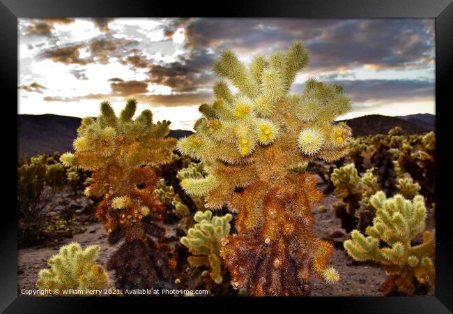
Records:
[[[171,281],[165,253],[153,240],[157,227],[149,221],[161,220],[165,214],[154,194],[158,179],[153,166],[171,160],[176,140],[163,138],[170,122],[153,124],[150,110],[132,120],[136,107],[137,102],[130,99],[116,117],[108,102],[101,103],[98,119],[82,120],[75,154],[61,156],[63,165],[93,171],[85,194],[104,196],[96,216],[104,220],[110,243],[125,239],[108,262],[120,289],[151,288],[156,281]]]

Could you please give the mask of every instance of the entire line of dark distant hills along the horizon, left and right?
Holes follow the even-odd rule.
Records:
[[[386,134],[390,128],[401,126],[405,134],[426,133],[433,129],[432,114],[412,114],[406,117],[387,117],[379,114],[346,120],[353,136]],[[414,120],[417,119],[417,120]],[[80,118],[55,114],[17,115],[17,149],[20,156],[72,151]],[[418,123],[417,123],[418,122]],[[423,123],[423,124],[422,124]],[[424,124],[427,127],[424,127]],[[432,126],[428,127],[428,126]],[[180,138],[192,134],[190,130],[171,130],[169,137]]]

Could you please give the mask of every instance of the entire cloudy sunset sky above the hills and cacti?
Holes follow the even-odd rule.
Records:
[[[18,20],[18,114],[96,117],[102,100],[119,113],[138,100],[155,121],[192,130],[213,101],[213,61],[302,40],[309,64],[291,89],[314,77],[341,84],[366,114],[435,114],[434,19],[49,18]]]

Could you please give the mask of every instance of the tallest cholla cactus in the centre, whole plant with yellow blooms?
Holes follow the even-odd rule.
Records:
[[[203,178],[184,179],[190,195],[205,196],[206,208],[225,204],[237,213],[239,234],[224,238],[221,255],[235,288],[252,295],[307,295],[312,269],[337,281],[328,266],[332,245],[312,233],[311,203],[321,200],[312,175],[289,174],[321,158],[337,160],[348,151],[351,129],[334,124],[351,102],[339,85],[308,80],[302,95],[289,89],[308,54],[295,41],[286,52],[256,56],[247,67],[231,51],[214,71],[215,102],[201,105],[196,133],[179,140],[183,154],[212,163]]]

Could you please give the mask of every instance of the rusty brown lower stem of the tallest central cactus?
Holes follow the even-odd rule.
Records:
[[[257,296],[309,294],[312,271],[319,275],[325,269],[333,249],[312,233],[309,197],[321,200],[312,179],[309,174],[302,179],[288,175],[282,181],[289,187],[282,188],[282,181],[277,181],[275,188],[265,192],[262,208],[240,209],[236,216],[240,233],[224,238],[221,250],[233,287],[246,287]],[[297,188],[296,182],[305,192]],[[249,193],[254,188],[259,187],[249,188]],[[263,213],[261,221],[253,230],[247,230],[256,210]]]

